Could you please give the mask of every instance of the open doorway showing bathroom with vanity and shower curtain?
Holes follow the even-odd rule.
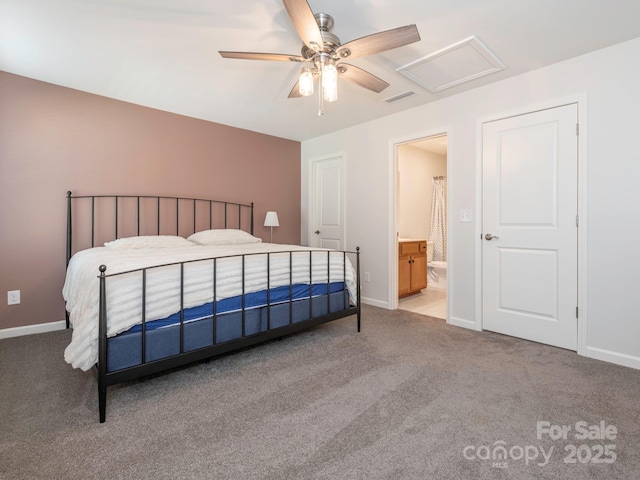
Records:
[[[447,318],[447,140],[396,145],[398,308],[439,319]]]

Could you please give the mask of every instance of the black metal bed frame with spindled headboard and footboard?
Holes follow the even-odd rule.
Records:
[[[175,209],[176,209],[176,228],[175,231],[171,231],[171,234],[179,234],[179,230],[180,230],[180,205],[181,203],[191,203],[193,206],[193,232],[191,233],[195,233],[196,228],[197,228],[197,206],[199,204],[204,204],[206,206],[206,204],[209,205],[208,208],[208,212],[209,212],[209,222],[208,222],[208,226],[209,228],[212,227],[213,222],[212,222],[212,212],[213,212],[213,206],[214,205],[220,205],[223,207],[224,209],[224,228],[227,228],[228,225],[228,219],[227,219],[227,210],[229,207],[232,207],[233,209],[237,209],[237,215],[238,215],[238,228],[240,228],[240,225],[242,224],[242,212],[243,211],[249,211],[249,217],[250,217],[250,228],[249,228],[249,233],[253,234],[253,226],[254,226],[254,214],[253,214],[253,208],[254,205],[253,203],[249,204],[239,204],[239,203],[233,203],[233,202],[226,202],[226,201],[219,201],[219,200],[205,200],[205,199],[197,199],[197,198],[185,198],[185,197],[167,197],[167,196],[148,196],[148,195],[81,195],[81,196],[73,196],[72,192],[67,192],[67,245],[66,245],[66,265],[68,266],[69,261],[71,259],[73,252],[73,227],[72,227],[72,223],[73,223],[73,214],[72,214],[72,200],[76,200],[76,199],[90,199],[91,200],[91,247],[95,246],[95,228],[96,228],[96,199],[112,199],[114,201],[115,204],[115,211],[114,211],[114,217],[115,217],[115,224],[114,224],[114,239],[118,238],[118,217],[119,217],[119,199],[124,199],[124,198],[129,198],[129,199],[137,199],[136,200],[136,218],[137,218],[137,227],[136,227],[136,235],[141,235],[141,234],[145,234],[144,232],[141,232],[141,228],[140,228],[140,220],[141,220],[141,213],[140,213],[140,200],[141,199],[155,199],[156,200],[156,209],[157,209],[157,229],[155,234],[160,235],[161,232],[163,231],[160,227],[160,223],[161,223],[161,205],[162,205],[162,201],[171,201],[172,203],[175,202]],[[229,228],[234,228],[234,227],[229,227]],[[88,247],[87,247],[88,248]],[[317,252],[317,251],[323,251],[326,252],[326,250],[309,250],[309,256],[310,256],[310,261],[311,261],[311,255],[312,252]],[[335,251],[334,251],[335,252]],[[278,252],[279,254],[283,254],[283,253],[289,253],[290,258],[291,255],[293,254],[293,251],[289,251],[289,252]],[[299,253],[299,252],[296,252]],[[169,357],[165,357],[159,360],[153,360],[153,361],[146,361],[145,359],[145,326],[146,326],[146,321],[144,318],[144,308],[143,308],[143,318],[142,318],[142,335],[141,335],[141,351],[142,351],[142,355],[141,355],[141,363],[140,365],[136,365],[133,367],[128,367],[128,368],[124,368],[122,370],[117,370],[114,372],[109,372],[107,369],[107,349],[108,349],[108,340],[107,340],[107,302],[106,302],[106,298],[107,298],[107,288],[106,288],[106,279],[110,276],[114,276],[114,275],[121,275],[124,273],[130,273],[130,272],[121,272],[118,274],[112,274],[109,275],[107,274],[107,266],[105,265],[101,265],[99,268],[99,288],[100,288],[100,305],[99,305],[99,326],[98,326],[98,363],[95,365],[95,373],[97,375],[97,380],[98,380],[98,404],[99,404],[99,413],[100,413],[100,423],[104,423],[106,420],[106,401],[107,401],[107,387],[110,385],[115,385],[118,383],[122,383],[122,382],[127,382],[127,381],[131,381],[131,380],[135,380],[141,377],[145,377],[148,375],[152,375],[155,373],[159,373],[159,372],[163,372],[163,371],[167,371],[170,369],[174,369],[177,367],[181,367],[190,363],[194,363],[197,361],[201,361],[201,360],[206,360],[215,356],[219,356],[225,353],[229,353],[235,350],[239,350],[245,347],[249,347],[252,345],[256,345],[259,343],[263,343],[269,340],[273,340],[276,338],[282,338],[286,335],[292,334],[292,333],[296,333],[296,332],[300,332],[303,330],[307,330],[309,328],[313,328],[315,326],[321,325],[323,323],[327,323],[327,322],[331,322],[333,320],[337,320],[340,318],[344,318],[347,316],[351,316],[351,315],[356,315],[356,322],[357,322],[357,331],[360,332],[360,323],[361,323],[361,295],[360,295],[360,248],[356,248],[356,251],[343,251],[341,252],[344,255],[344,266],[346,268],[346,257],[347,254],[350,255],[354,255],[356,258],[356,266],[355,266],[355,271],[356,271],[356,304],[355,305],[349,305],[349,308],[345,309],[345,310],[341,310],[338,312],[334,312],[334,313],[327,313],[325,315],[322,316],[318,316],[318,317],[313,317],[312,315],[312,311],[311,311],[311,307],[312,307],[312,302],[309,301],[309,319],[297,322],[297,323],[293,323],[292,321],[292,315],[291,315],[291,305],[292,305],[292,300],[289,300],[289,323],[287,325],[284,326],[280,326],[278,328],[275,329],[271,329],[270,325],[271,325],[271,309],[269,308],[271,306],[271,301],[270,301],[270,294],[267,293],[267,304],[265,305],[267,307],[267,329],[265,331],[261,331],[259,333],[255,333],[252,335],[245,335],[245,304],[244,304],[244,262],[245,262],[245,257],[254,255],[254,254],[246,254],[246,255],[235,255],[234,257],[242,257],[242,265],[243,265],[243,269],[242,269],[242,275],[243,275],[243,279],[242,279],[242,308],[241,308],[241,315],[242,315],[242,336],[240,338],[234,339],[234,340],[230,340],[227,341],[225,343],[215,343],[215,333],[214,333],[214,342],[212,345],[210,346],[206,346],[203,348],[199,348],[196,350],[190,350],[190,351],[184,351],[184,308],[180,309],[180,323],[179,323],[179,328],[180,328],[180,353],[173,355],[173,356],[169,356]],[[264,253],[262,254],[264,255]],[[267,254],[267,262],[269,262],[269,255]],[[327,255],[329,255],[329,252],[327,252]],[[218,257],[219,258],[223,258],[223,257]],[[225,257],[225,258],[229,258],[229,257]],[[211,260],[214,262],[214,271],[215,271],[215,262],[217,261],[215,258],[210,258],[210,259],[199,259],[197,261],[206,261],[206,260]],[[328,258],[327,258],[328,260]],[[290,260],[291,262],[291,260]],[[184,284],[183,284],[183,280],[184,280],[184,265],[188,264],[191,262],[174,262],[174,263],[168,263],[165,265],[158,265],[158,266],[154,266],[154,267],[148,267],[148,268],[142,268],[142,269],[137,269],[134,271],[141,271],[142,272],[142,278],[143,278],[143,285],[142,285],[142,292],[143,292],[143,296],[145,295],[145,278],[146,278],[146,272],[148,270],[154,269],[154,268],[159,268],[162,266],[168,266],[168,265],[180,265],[180,270],[181,270],[181,286],[180,286],[180,298],[184,298]],[[290,263],[291,264],[291,263]],[[268,265],[270,265],[270,263],[268,263]],[[330,266],[329,266],[329,261],[327,261],[327,270],[329,270]],[[310,268],[311,270],[311,268]],[[98,272],[97,272],[98,273]],[[329,271],[327,271],[327,278],[329,277]],[[269,281],[269,268],[267,268],[267,282]],[[310,273],[311,276],[311,273]],[[346,273],[345,273],[345,277],[346,277]],[[290,277],[291,278],[291,277]],[[328,280],[327,280],[328,281]],[[291,285],[291,281],[289,282],[289,288],[291,291],[292,285]],[[268,284],[268,283],[267,283]],[[330,302],[330,298],[329,298],[329,285],[327,285],[327,311],[329,311],[329,302]],[[214,277],[214,292],[215,292],[215,277]],[[268,292],[268,291],[267,291]],[[311,290],[309,292],[309,299],[311,298]],[[145,304],[145,300],[143,297],[143,305]],[[215,304],[215,293],[214,293],[214,304]],[[213,310],[213,316],[212,316],[212,323],[213,323],[213,328],[215,331],[216,328],[216,318],[217,318],[217,313],[215,311],[215,307]],[[69,328],[69,312],[66,312],[66,319],[67,319],[67,328]]]

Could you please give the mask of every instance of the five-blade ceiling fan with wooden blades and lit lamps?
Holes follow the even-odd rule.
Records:
[[[331,33],[334,23],[331,15],[314,15],[307,0],[283,0],[282,3],[304,43],[300,55],[229,51],[219,53],[223,58],[304,63],[289,98],[313,95],[314,79],[319,78],[318,115],[324,114],[324,101],[337,100],[338,75],[376,93],[389,86],[381,78],[343,60],[373,55],[420,40],[417,27],[406,25],[351,40],[343,45]]]

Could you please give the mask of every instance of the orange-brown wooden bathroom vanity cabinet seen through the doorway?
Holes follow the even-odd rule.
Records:
[[[398,297],[427,288],[426,240],[400,239],[398,255]]]

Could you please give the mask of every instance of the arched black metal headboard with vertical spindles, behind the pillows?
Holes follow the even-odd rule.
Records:
[[[237,228],[253,234],[253,202],[67,192],[67,265],[78,250],[117,238],[189,236],[212,228]]]

